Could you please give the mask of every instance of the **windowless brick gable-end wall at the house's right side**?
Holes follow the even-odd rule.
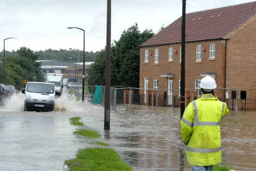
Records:
[[[256,97],[256,19],[234,31],[227,41],[226,86],[246,91],[246,98]],[[231,95],[230,95],[231,96]]]

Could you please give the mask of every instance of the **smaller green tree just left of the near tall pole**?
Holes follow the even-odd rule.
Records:
[[[88,85],[105,86],[105,70],[106,70],[106,48],[102,49],[96,56],[94,63],[88,69]]]

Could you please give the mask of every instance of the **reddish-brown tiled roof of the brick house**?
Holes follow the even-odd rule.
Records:
[[[256,1],[186,13],[185,41],[222,39],[256,14]],[[140,47],[181,43],[182,16]]]

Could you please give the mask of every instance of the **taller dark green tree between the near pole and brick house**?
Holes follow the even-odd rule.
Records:
[[[112,85],[139,87],[140,45],[153,37],[152,30],[139,31],[137,23],[114,41],[111,61]]]

